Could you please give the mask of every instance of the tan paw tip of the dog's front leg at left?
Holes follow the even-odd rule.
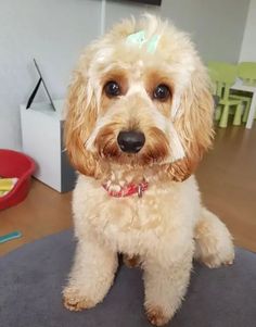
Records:
[[[69,311],[81,311],[93,307],[97,303],[81,295],[79,290],[66,287],[63,291],[63,304]]]

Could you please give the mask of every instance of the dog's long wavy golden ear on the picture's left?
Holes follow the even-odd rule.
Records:
[[[71,163],[81,174],[97,178],[100,173],[97,154],[85,146],[95,125],[97,103],[84,72],[74,73],[66,105],[64,142]]]

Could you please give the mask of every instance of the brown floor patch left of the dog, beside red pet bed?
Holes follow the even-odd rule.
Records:
[[[72,225],[72,193],[52,190],[33,179],[27,198],[16,206],[0,211],[0,235],[20,230],[22,238],[0,244],[0,255],[24,243],[51,235]]]

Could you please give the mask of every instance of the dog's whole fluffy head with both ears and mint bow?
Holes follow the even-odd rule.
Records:
[[[138,40],[138,35],[143,39]],[[106,164],[157,165],[176,180],[210,144],[207,74],[188,40],[148,16],[117,25],[81,55],[68,96],[65,141],[82,174]]]

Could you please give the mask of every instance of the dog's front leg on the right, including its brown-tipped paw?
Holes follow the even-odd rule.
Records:
[[[143,262],[144,307],[151,324],[167,324],[179,309],[189,285],[192,256],[193,249],[171,264],[154,260]]]

